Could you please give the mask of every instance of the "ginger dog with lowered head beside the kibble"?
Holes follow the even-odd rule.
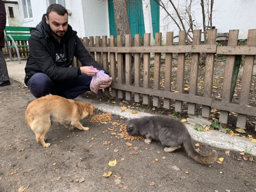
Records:
[[[44,136],[52,124],[64,125],[67,129],[74,127],[88,131],[79,120],[89,118],[94,113],[94,107],[90,103],[65,99],[61,96],[47,95],[35,99],[26,108],[26,124],[35,133],[37,143],[49,147],[50,143],[44,142]]]

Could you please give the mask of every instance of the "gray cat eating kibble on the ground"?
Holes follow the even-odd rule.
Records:
[[[217,159],[217,152],[212,150],[209,155],[201,155],[195,151],[191,137],[185,125],[167,116],[144,116],[136,119],[129,119],[126,126],[130,135],[145,135],[145,143],[157,140],[166,146],[164,151],[172,152],[184,146],[188,155],[195,161],[203,164],[210,164]]]

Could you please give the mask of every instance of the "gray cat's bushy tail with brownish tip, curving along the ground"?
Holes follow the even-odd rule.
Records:
[[[186,149],[188,155],[199,163],[211,164],[214,163],[217,159],[217,152],[215,150],[212,150],[212,153],[209,155],[201,155],[200,153],[195,151],[194,145],[191,140],[186,140],[183,143],[183,146]]]

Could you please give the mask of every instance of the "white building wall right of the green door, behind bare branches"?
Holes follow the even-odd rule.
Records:
[[[169,0],[163,0],[169,2]],[[173,1],[176,3],[178,1]],[[185,0],[179,0],[180,5]],[[194,29],[203,30],[202,12],[200,0],[193,2],[195,5],[192,7],[194,12],[195,24],[197,27]],[[167,9],[172,14],[174,9],[168,3]],[[239,29],[239,38],[247,38],[249,29],[256,29],[256,0],[214,0],[212,25],[216,26],[217,32],[229,32],[230,29]],[[189,26],[185,26],[186,30]],[[174,35],[178,35],[179,29],[174,21],[166,14],[165,10],[160,7],[160,32],[166,36],[166,32],[173,31]]]

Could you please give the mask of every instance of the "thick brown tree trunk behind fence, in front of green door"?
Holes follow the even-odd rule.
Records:
[[[114,17],[116,25],[116,35],[122,35],[125,42],[125,35],[131,35],[129,15],[128,15],[128,0],[113,0]],[[131,38],[131,45],[134,46],[134,40]],[[134,55],[131,57],[131,83],[134,83]],[[123,69],[125,69],[125,53],[123,53]],[[125,70],[123,74],[125,81]]]

